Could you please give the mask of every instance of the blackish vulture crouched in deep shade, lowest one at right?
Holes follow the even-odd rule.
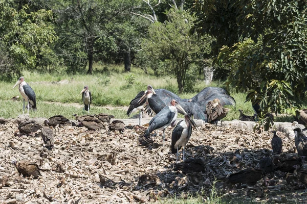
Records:
[[[262,179],[263,176],[264,175],[261,170],[249,168],[230,174],[228,180],[231,184],[242,183],[255,185],[257,181]]]

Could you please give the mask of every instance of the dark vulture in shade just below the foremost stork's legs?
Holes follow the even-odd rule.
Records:
[[[187,159],[184,162],[174,164],[174,171],[181,170],[184,173],[205,172],[206,166],[202,159]]]

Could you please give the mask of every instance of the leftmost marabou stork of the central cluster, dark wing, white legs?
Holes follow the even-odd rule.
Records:
[[[150,85],[147,86],[147,89],[150,89],[153,91],[153,88]],[[140,91],[138,95],[130,101],[129,108],[127,110],[127,116],[130,116],[132,113],[139,111],[139,125],[142,124],[142,113],[143,113],[144,107],[146,106],[146,98],[145,97],[142,98],[142,96],[144,96],[145,93],[147,93],[147,90]],[[153,91],[153,93],[155,92]]]

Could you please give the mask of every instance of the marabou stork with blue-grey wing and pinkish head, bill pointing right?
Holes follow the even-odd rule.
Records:
[[[145,133],[145,137],[149,137],[150,133],[155,130],[163,130],[163,144],[165,139],[165,129],[169,125],[174,127],[176,125],[178,111],[185,112],[185,110],[178,104],[176,100],[172,100],[170,106],[164,107],[155,117],[149,121],[149,127]],[[186,113],[185,113],[186,114]]]

